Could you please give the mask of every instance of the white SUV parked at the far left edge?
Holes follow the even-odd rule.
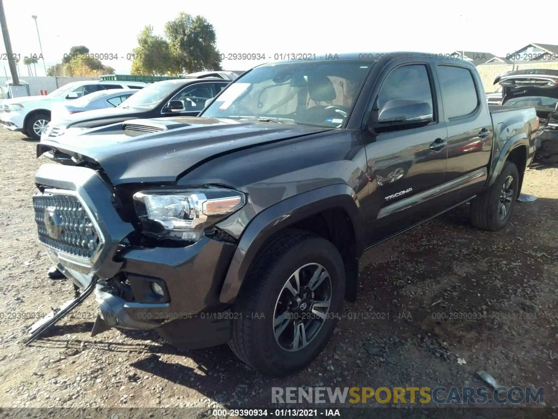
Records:
[[[0,108],[0,123],[10,131],[20,131],[33,140],[39,140],[50,122],[53,103],[66,103],[104,89],[142,89],[147,85],[143,82],[84,80],[65,84],[46,96],[5,99]]]

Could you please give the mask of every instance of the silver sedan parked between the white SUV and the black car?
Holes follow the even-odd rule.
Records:
[[[57,121],[74,113],[93,111],[93,109],[115,108],[138,89],[110,89],[87,94],[66,103],[52,105],[51,121]]]

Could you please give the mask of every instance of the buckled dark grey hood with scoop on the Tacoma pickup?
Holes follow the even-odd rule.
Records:
[[[83,164],[83,161],[98,164],[114,185],[175,182],[217,156],[331,130],[291,123],[203,117],[185,117],[181,122],[184,126],[180,128],[140,136],[119,134],[111,139],[107,133],[87,136],[85,141],[69,141],[66,135],[60,141],[49,138],[37,144],[37,157],[57,150],[73,158],[73,162],[68,160],[65,164]],[[76,140],[78,137],[81,136],[76,136]]]

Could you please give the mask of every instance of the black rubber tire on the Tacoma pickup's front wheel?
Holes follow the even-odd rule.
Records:
[[[329,315],[307,346],[287,351],[276,341],[273,321],[283,285],[306,264],[321,264],[329,273]],[[333,334],[345,294],[343,259],[336,247],[317,235],[287,230],[272,239],[254,261],[233,312],[230,349],[253,369],[272,377],[295,373],[318,356]],[[300,287],[302,289],[302,287]]]

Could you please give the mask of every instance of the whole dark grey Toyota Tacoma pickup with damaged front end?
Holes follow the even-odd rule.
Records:
[[[35,176],[39,240],[83,293],[30,341],[95,290],[93,334],[228,342],[252,368],[287,375],[355,300],[365,249],[465,202],[474,226],[503,228],[535,151],[535,109],[489,111],[468,61],[338,58],[259,65],[172,130],[38,144],[62,163]]]

